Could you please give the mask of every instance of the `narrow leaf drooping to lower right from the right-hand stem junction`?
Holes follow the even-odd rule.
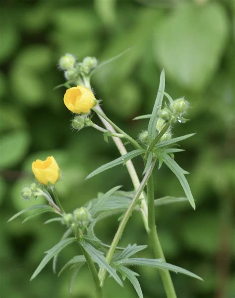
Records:
[[[178,178],[184,193],[187,197],[187,199],[189,200],[191,206],[193,207],[193,209],[195,209],[195,202],[190,190],[190,187],[188,185],[188,182],[186,180],[186,178],[184,177],[184,170],[182,168],[180,168],[180,166],[176,163],[175,160],[173,160],[168,154],[166,153],[160,153],[160,152],[156,152],[157,155],[160,156],[160,158],[163,160],[163,162],[168,166],[168,168],[176,175],[176,177]]]

